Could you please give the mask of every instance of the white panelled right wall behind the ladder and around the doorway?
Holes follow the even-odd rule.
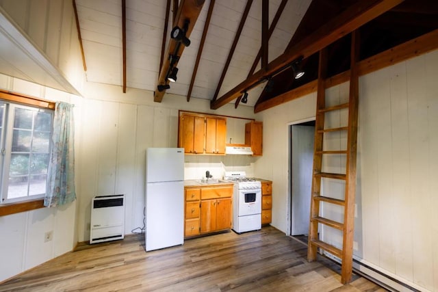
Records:
[[[355,258],[422,291],[438,291],[438,51],[359,79]],[[348,83],[330,88],[343,101]],[[315,94],[257,115],[263,157],[255,174],[272,179],[272,225],[286,232],[287,124],[314,116]],[[332,118],[342,123],[340,114]],[[340,135],[331,144],[342,145]],[[341,170],[335,161],[331,168]],[[323,212],[339,215],[336,210]],[[335,233],[324,239],[339,243]]]

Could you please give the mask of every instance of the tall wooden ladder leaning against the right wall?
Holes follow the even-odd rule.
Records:
[[[359,40],[357,31],[352,33],[351,46],[351,68],[350,68],[350,96],[348,103],[326,107],[326,69],[327,53],[326,49],[320,51],[320,64],[318,68],[318,92],[316,102],[315,120],[315,144],[313,153],[313,180],[311,191],[311,210],[309,226],[309,248],[307,253],[308,261],[315,261],[318,248],[325,250],[342,261],[341,282],[346,284],[352,277],[352,249],[353,232],[355,222],[355,187],[356,187],[356,152],[357,152],[357,115],[358,115],[358,96],[359,96],[359,75],[357,72],[357,61],[359,59]],[[324,128],[326,114],[333,111],[348,108],[348,126],[332,129]],[[346,150],[324,150],[324,135],[329,132],[347,132]],[[324,155],[343,155],[346,156],[346,173],[322,172],[322,157]],[[331,178],[345,181],[344,195],[335,197],[335,194],[321,194],[322,178]],[[325,193],[326,191],[324,191]],[[340,200],[339,198],[342,198]],[[320,203],[329,203],[342,206],[344,210],[344,222],[336,222],[320,215]],[[319,239],[318,226],[322,224],[342,231],[342,248],[337,248]]]

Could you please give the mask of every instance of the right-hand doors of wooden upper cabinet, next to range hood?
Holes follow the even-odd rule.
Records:
[[[224,118],[206,118],[205,152],[225,154],[227,139],[227,120]]]

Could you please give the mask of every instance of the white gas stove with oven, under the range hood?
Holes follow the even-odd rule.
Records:
[[[225,172],[224,180],[234,183],[233,230],[236,233],[261,229],[261,182],[246,172]]]

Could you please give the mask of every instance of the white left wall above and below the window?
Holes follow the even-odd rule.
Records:
[[[50,101],[66,101],[80,105],[81,98],[44,88],[44,86],[0,75],[0,88]],[[80,117],[75,107],[75,116]],[[76,147],[79,140],[76,141]],[[0,217],[0,282],[16,274],[70,252],[77,243],[77,203],[57,208]],[[44,233],[53,232],[53,240],[44,242]]]

